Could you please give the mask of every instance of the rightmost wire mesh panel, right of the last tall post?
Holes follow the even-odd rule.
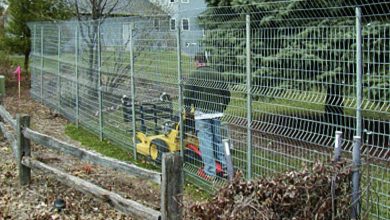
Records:
[[[363,141],[362,154],[369,161],[370,174],[364,182],[371,184],[369,193],[374,205],[372,217],[390,218],[389,144],[390,144],[390,75],[389,34],[387,23],[366,15],[363,28]],[[387,165],[386,165],[387,164]]]

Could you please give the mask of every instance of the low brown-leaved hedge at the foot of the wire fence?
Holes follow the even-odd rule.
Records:
[[[194,219],[332,219],[334,198],[336,219],[348,219],[351,169],[346,165],[317,162],[311,169],[254,181],[238,174],[211,201],[189,207],[189,214]]]

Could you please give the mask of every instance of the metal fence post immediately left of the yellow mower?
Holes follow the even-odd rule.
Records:
[[[133,30],[134,23],[130,24],[130,80],[131,80],[131,126],[133,131],[133,158],[137,160],[137,141],[136,141],[136,129],[137,129],[137,118],[135,111],[135,72],[134,72],[134,42],[133,42]]]

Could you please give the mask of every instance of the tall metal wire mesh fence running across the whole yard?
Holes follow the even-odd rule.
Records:
[[[165,15],[109,19],[101,25],[34,23],[31,94],[133,153],[133,106],[124,106],[123,96],[135,95],[136,132],[161,134],[166,122],[177,122],[179,110],[190,107],[182,105],[180,92],[196,70],[194,54],[206,52],[208,65],[223,76],[231,93],[222,118],[223,138],[230,139],[236,170],[269,176],[327,160],[336,131],[343,132],[344,155],[350,158],[361,107],[361,149],[370,170],[362,185],[372,195],[363,208],[371,217],[389,219],[390,3],[358,3],[363,12],[363,77],[358,85],[356,4],[335,2],[199,9],[189,20],[202,28],[182,30],[180,43]],[[287,6],[289,10],[281,10]],[[180,17],[188,12],[181,11]],[[160,106],[163,92],[171,96],[172,112]],[[198,144],[193,121],[184,125],[184,143]],[[197,175],[201,159],[186,152],[184,156],[190,180],[213,188],[215,182]]]

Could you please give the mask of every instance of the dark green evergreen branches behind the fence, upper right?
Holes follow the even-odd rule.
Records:
[[[362,4],[365,94],[386,101],[390,95],[383,64],[390,60],[388,19],[381,16],[389,3],[372,0],[208,0],[210,7],[200,22],[206,30],[203,45],[219,71],[235,73],[230,79],[245,78],[245,15],[251,16],[251,67],[255,92],[270,88],[283,95],[289,90],[321,90],[327,84],[346,85],[344,94],[354,94],[356,29],[355,5]],[[370,25],[368,25],[370,24]],[[370,50],[368,50],[370,48]],[[372,71],[375,71],[372,73]],[[324,83],[325,82],[325,83]],[[368,91],[369,90],[369,91]],[[283,92],[284,91],[284,92]],[[272,92],[273,93],[273,92]],[[385,94],[387,93],[387,94]],[[382,96],[379,97],[381,94]]]

